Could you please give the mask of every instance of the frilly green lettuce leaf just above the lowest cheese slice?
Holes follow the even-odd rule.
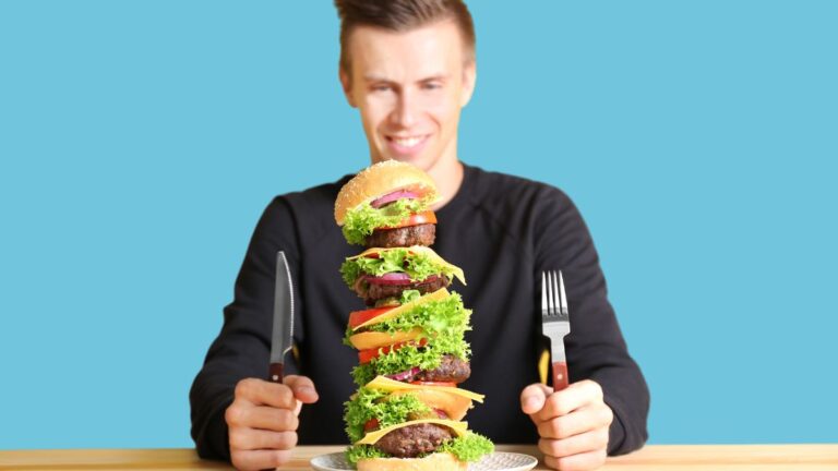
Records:
[[[346,435],[350,443],[363,438],[363,425],[372,419],[378,419],[379,427],[384,428],[432,412],[416,395],[390,396],[390,392],[366,387],[358,389],[358,392],[344,403],[344,411]]]

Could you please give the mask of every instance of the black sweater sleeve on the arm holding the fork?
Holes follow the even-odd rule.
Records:
[[[649,390],[608,301],[590,233],[576,206],[561,191],[549,189],[538,201],[534,275],[540,279],[544,269],[563,273],[571,315],[571,334],[565,338],[570,379],[592,379],[602,386],[604,401],[614,412],[609,455],[636,450],[648,437]]]

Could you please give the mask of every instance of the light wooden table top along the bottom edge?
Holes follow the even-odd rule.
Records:
[[[532,446],[502,445],[500,451],[540,456]],[[339,446],[297,447],[285,469],[309,470],[318,455],[340,451]],[[204,461],[189,448],[0,450],[0,470],[231,470]],[[542,463],[536,467],[544,470]],[[794,470],[838,471],[838,445],[650,445],[628,456],[609,458],[604,471]]]

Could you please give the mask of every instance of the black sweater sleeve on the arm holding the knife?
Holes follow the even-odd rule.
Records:
[[[190,390],[192,439],[202,458],[229,460],[225,411],[232,402],[236,384],[247,377],[267,378],[278,250],[286,252],[295,277],[299,273],[296,224],[280,197],[267,206],[256,225],[236,279],[234,301],[224,309],[222,331]],[[298,292],[295,299],[300,299]],[[298,324],[295,328],[297,343],[301,327]],[[297,373],[291,355],[286,359],[286,372]]]

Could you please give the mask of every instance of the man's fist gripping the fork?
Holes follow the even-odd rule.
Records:
[[[538,427],[544,463],[558,470],[592,470],[606,462],[608,428],[614,414],[602,388],[585,379],[553,392],[541,384],[520,392],[520,408]]]

